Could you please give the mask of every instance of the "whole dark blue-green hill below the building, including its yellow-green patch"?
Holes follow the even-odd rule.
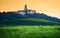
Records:
[[[20,24],[20,25],[56,25],[60,23],[60,19],[51,17],[46,14],[19,14],[18,12],[0,13],[0,24]]]

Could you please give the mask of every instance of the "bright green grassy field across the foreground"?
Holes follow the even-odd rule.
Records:
[[[60,26],[4,26],[0,38],[60,38]]]

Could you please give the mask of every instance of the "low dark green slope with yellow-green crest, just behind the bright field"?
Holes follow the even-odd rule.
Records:
[[[15,25],[57,25],[57,22],[52,22],[43,19],[36,18],[26,18],[26,19],[17,19],[8,22],[4,22],[4,24],[15,24]]]

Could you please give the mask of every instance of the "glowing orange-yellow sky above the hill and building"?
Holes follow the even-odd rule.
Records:
[[[23,10],[25,4],[28,9],[60,18],[60,0],[0,0],[0,11]]]

